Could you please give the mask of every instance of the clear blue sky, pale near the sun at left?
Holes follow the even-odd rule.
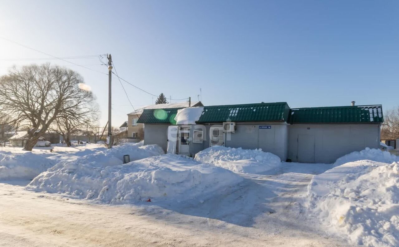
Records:
[[[399,105],[397,1],[2,1],[0,36],[58,57],[111,53],[129,82],[193,100],[202,88],[205,105]],[[0,60],[45,57],[0,39]],[[107,73],[98,59],[71,61]],[[0,61],[0,74],[27,63]],[[69,68],[105,124],[107,76]],[[152,103],[124,86],[135,107]],[[113,125],[131,111],[114,77]]]

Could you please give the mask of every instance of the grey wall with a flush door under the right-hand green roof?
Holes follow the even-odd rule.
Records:
[[[288,159],[334,163],[353,151],[378,149],[379,139],[377,124],[293,124],[289,126]]]

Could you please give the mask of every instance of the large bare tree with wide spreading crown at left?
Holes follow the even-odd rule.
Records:
[[[87,110],[88,99],[94,96],[80,89],[81,83],[83,78],[75,71],[49,64],[14,67],[0,77],[0,111],[12,116],[14,126],[30,128],[25,150],[32,151],[57,118],[76,119]]]

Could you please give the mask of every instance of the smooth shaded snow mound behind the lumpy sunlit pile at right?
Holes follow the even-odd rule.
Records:
[[[370,149],[366,147],[366,149],[362,151],[359,152],[355,151],[345,156],[342,156],[341,158],[338,158],[335,161],[334,166],[339,166],[348,162],[361,161],[366,159],[371,161],[384,162],[384,163],[392,163],[395,161],[399,161],[398,157],[396,157],[395,155],[391,155],[387,151],[381,151],[381,149]]]

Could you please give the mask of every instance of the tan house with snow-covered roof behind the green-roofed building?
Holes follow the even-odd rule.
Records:
[[[201,101],[191,102],[191,107],[195,106],[203,106]],[[141,114],[144,110],[156,110],[156,109],[169,109],[169,108],[186,108],[189,107],[189,102],[182,103],[174,103],[174,104],[157,104],[157,105],[148,105],[142,108],[136,109],[134,112],[130,112],[127,114],[127,138],[128,139],[136,139],[137,141],[142,139],[144,136],[144,125],[143,123],[138,123],[138,118],[140,118]],[[156,111],[155,111],[156,112]]]

